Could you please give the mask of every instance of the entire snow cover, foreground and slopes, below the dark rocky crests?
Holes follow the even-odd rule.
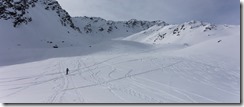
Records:
[[[100,40],[42,6],[27,25],[0,20],[0,102],[240,103],[240,26],[156,24]]]

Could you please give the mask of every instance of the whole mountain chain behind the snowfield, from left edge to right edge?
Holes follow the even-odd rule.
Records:
[[[87,43],[92,45],[112,39],[148,44],[181,43],[193,45],[196,42],[216,37],[214,35],[231,33],[231,30],[239,29],[238,26],[214,25],[195,20],[172,25],[160,20],[111,21],[99,17],[71,17],[56,0],[2,0],[0,4],[2,4],[0,5],[0,22],[5,25],[1,32],[6,32],[6,36],[9,34],[12,38],[20,38],[20,35],[22,37],[14,40],[15,42],[12,42],[12,44],[7,43],[8,46],[13,44],[33,45],[32,43],[27,44],[28,39],[37,35],[39,35],[37,38],[32,39],[32,41],[35,41],[34,46],[51,48],[57,46],[68,47],[75,44],[75,46],[80,46]],[[11,25],[15,28],[12,32],[19,32],[22,29],[22,34],[8,32],[7,29],[13,29]],[[29,29],[33,29],[33,31]],[[43,35],[42,32],[45,32],[45,34]],[[35,36],[32,34],[35,34]],[[1,40],[10,39],[5,36],[1,38],[3,38]],[[12,38],[10,41],[12,41]],[[73,43],[74,38],[75,43]],[[189,43],[192,41],[195,43]]]

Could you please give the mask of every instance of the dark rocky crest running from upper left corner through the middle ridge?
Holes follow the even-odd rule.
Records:
[[[36,7],[41,7],[46,11],[54,11],[59,17],[57,20],[60,21],[61,25],[71,27],[84,34],[96,32],[106,34],[122,32],[131,34],[146,30],[154,25],[168,25],[164,21],[140,21],[136,19],[129,21],[110,21],[98,17],[72,18],[68,12],[62,9],[56,0],[1,0],[0,20],[10,20],[13,23],[13,27],[27,25],[37,20],[32,17],[34,14],[33,11],[30,11]]]

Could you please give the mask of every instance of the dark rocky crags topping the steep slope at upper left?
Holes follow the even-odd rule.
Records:
[[[27,24],[32,20],[29,13],[30,8],[41,5],[46,10],[55,11],[60,17],[60,23],[63,26],[69,26],[74,30],[80,31],[71,21],[71,16],[55,0],[2,0],[0,2],[0,19],[12,20],[13,26],[17,27],[23,23]]]

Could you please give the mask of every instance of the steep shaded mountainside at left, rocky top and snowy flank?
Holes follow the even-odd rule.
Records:
[[[56,47],[87,44],[55,0],[1,0],[0,4],[0,65],[37,61]]]

